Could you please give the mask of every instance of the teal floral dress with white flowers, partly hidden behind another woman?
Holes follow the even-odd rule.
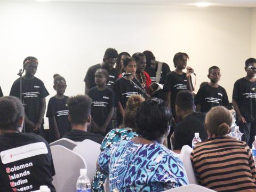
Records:
[[[113,129],[108,132],[106,137],[101,143],[101,151],[105,149],[110,149],[115,143],[121,140],[131,140],[137,137],[138,134],[134,132],[131,128]],[[104,192],[103,183],[105,182],[108,175],[102,174],[97,169],[94,173],[92,189],[94,192]]]

